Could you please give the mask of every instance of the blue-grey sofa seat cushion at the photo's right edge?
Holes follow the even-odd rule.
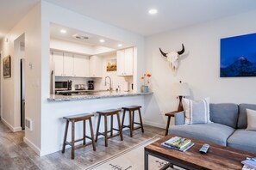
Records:
[[[228,146],[235,149],[247,150],[256,153],[256,131],[240,129],[228,138]]]

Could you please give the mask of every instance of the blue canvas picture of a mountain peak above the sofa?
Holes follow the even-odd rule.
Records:
[[[256,76],[256,33],[221,39],[221,77]]]

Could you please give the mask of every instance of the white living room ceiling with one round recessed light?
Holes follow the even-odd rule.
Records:
[[[256,9],[256,0],[44,0],[143,36]],[[0,0],[0,39],[40,0]],[[147,10],[158,9],[157,15]]]

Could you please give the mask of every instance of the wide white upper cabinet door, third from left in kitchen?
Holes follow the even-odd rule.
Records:
[[[89,76],[89,57],[82,55],[74,55],[74,76]]]

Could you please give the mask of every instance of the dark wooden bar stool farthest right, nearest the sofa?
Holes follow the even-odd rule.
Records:
[[[133,131],[138,130],[140,128],[141,128],[142,133],[144,133],[140,108],[141,108],[141,106],[125,106],[125,107],[122,107],[122,109],[123,109],[122,128],[129,128],[130,129],[130,137],[133,137]],[[125,118],[126,111],[128,111],[128,113],[129,113],[129,124],[128,125],[124,125],[124,118]],[[134,112],[135,111],[139,112],[140,123],[134,122]],[[140,126],[134,128],[134,124],[140,124]]]

